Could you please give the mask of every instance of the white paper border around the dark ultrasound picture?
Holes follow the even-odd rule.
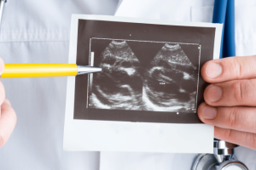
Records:
[[[214,27],[216,28],[216,32],[213,59],[218,59],[219,56],[222,35],[222,25],[220,24],[73,14],[69,64],[76,64],[79,19],[171,26]],[[64,150],[175,153],[212,153],[213,151],[213,127],[206,124],[74,120],[74,89],[75,77],[68,77],[63,142]]]

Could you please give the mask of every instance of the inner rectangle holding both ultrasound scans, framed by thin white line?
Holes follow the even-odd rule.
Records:
[[[102,72],[88,78],[87,108],[196,112],[200,50],[196,43],[91,38],[90,65]]]

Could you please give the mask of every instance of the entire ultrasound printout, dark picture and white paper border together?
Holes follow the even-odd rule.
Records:
[[[197,115],[218,59],[222,25],[73,14],[63,149],[212,153],[214,127]]]

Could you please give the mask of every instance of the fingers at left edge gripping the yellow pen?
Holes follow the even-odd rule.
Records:
[[[4,69],[3,59],[0,58],[0,75]],[[0,148],[7,142],[16,124],[16,114],[8,99],[5,99],[3,83],[0,82]]]

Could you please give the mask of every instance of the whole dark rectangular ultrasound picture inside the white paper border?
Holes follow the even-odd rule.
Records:
[[[75,77],[73,118],[117,122],[202,123],[215,28],[79,20],[77,65],[102,72]]]

